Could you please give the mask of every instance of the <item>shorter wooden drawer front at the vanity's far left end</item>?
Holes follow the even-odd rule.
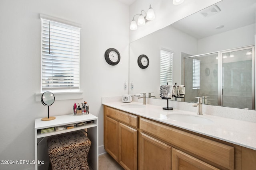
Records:
[[[104,106],[104,114],[120,122],[126,123],[132,127],[138,127],[138,116],[108,106]]]

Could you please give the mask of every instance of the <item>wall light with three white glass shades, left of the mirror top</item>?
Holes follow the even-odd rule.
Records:
[[[145,14],[143,15],[142,12],[144,12]],[[138,18],[138,22],[136,23],[136,21],[134,20],[134,17],[139,15],[139,18]],[[148,13],[146,13],[146,11],[144,10],[141,10],[140,14],[136,14],[134,15],[133,19],[132,19],[132,22],[130,24],[130,29],[131,30],[136,30],[138,27],[137,27],[137,24],[142,26],[142,25],[145,25],[145,23],[147,21],[151,21],[151,20],[154,20],[155,19],[155,13],[154,13],[154,10],[151,8],[151,5],[149,5],[149,9],[148,9]]]

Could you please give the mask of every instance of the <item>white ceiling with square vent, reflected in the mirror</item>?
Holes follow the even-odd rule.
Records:
[[[202,12],[192,14],[172,24],[188,35],[202,39],[211,35],[255,23],[256,0],[222,0],[216,4],[220,12],[205,17]],[[216,27],[224,25],[221,29]]]

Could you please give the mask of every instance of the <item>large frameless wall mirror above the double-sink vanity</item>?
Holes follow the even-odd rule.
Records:
[[[254,109],[255,9],[255,0],[222,0],[130,43],[129,94],[146,92],[146,97],[151,93],[151,97],[160,99],[163,62],[160,58],[168,55],[172,58],[172,84],[186,85],[185,97],[176,100],[196,102],[194,97],[208,96],[207,104]],[[234,55],[238,53],[240,57],[236,59]],[[138,66],[140,55],[149,59],[145,69]],[[233,58],[226,61],[227,56]],[[193,86],[193,74],[188,73],[193,70],[196,60],[200,61],[200,88]],[[231,65],[238,66],[231,68]],[[227,70],[228,74],[224,74]],[[239,81],[235,82],[235,79]],[[205,84],[207,86],[203,86]],[[225,90],[229,94],[235,92],[237,96],[219,96]],[[242,98],[244,94],[249,95]],[[226,99],[232,98],[241,100],[232,101],[232,106],[225,103]],[[250,104],[236,105],[236,102],[246,101]]]

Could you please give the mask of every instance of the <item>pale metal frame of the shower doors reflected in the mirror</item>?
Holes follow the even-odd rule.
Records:
[[[233,52],[233,51],[240,51],[240,50],[245,50],[245,49],[252,49],[252,109],[255,109],[255,46],[254,45],[249,45],[249,46],[245,46],[245,47],[238,47],[238,48],[234,48],[234,49],[228,49],[228,50],[223,50],[223,51],[217,51],[217,52],[213,52],[213,53],[206,53],[206,54],[201,54],[201,55],[193,55],[190,57],[184,57],[183,58],[183,74],[184,74],[184,84],[185,84],[185,59],[186,58],[191,58],[191,57],[200,57],[202,55],[210,55],[210,54],[214,54],[217,53],[218,54],[218,82],[217,82],[217,86],[218,86],[218,106],[222,106],[223,104],[223,87],[222,87],[222,79],[223,79],[223,53],[229,53],[229,52]],[[197,97],[197,96],[196,96]],[[228,107],[228,106],[225,106]]]

